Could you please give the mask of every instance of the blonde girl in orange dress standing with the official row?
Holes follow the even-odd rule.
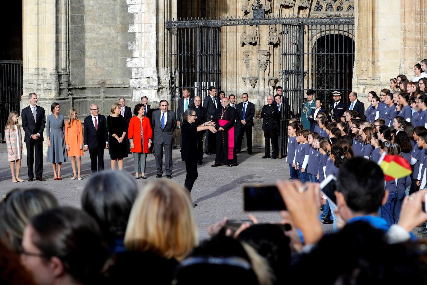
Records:
[[[83,155],[83,132],[82,121],[77,119],[77,111],[71,108],[68,111],[68,119],[65,124],[65,148],[67,155],[71,157],[71,167],[73,167],[73,178],[82,180],[80,177],[80,169],[82,168],[82,160],[80,156]],[[77,159],[77,173],[76,175],[76,159]]]

